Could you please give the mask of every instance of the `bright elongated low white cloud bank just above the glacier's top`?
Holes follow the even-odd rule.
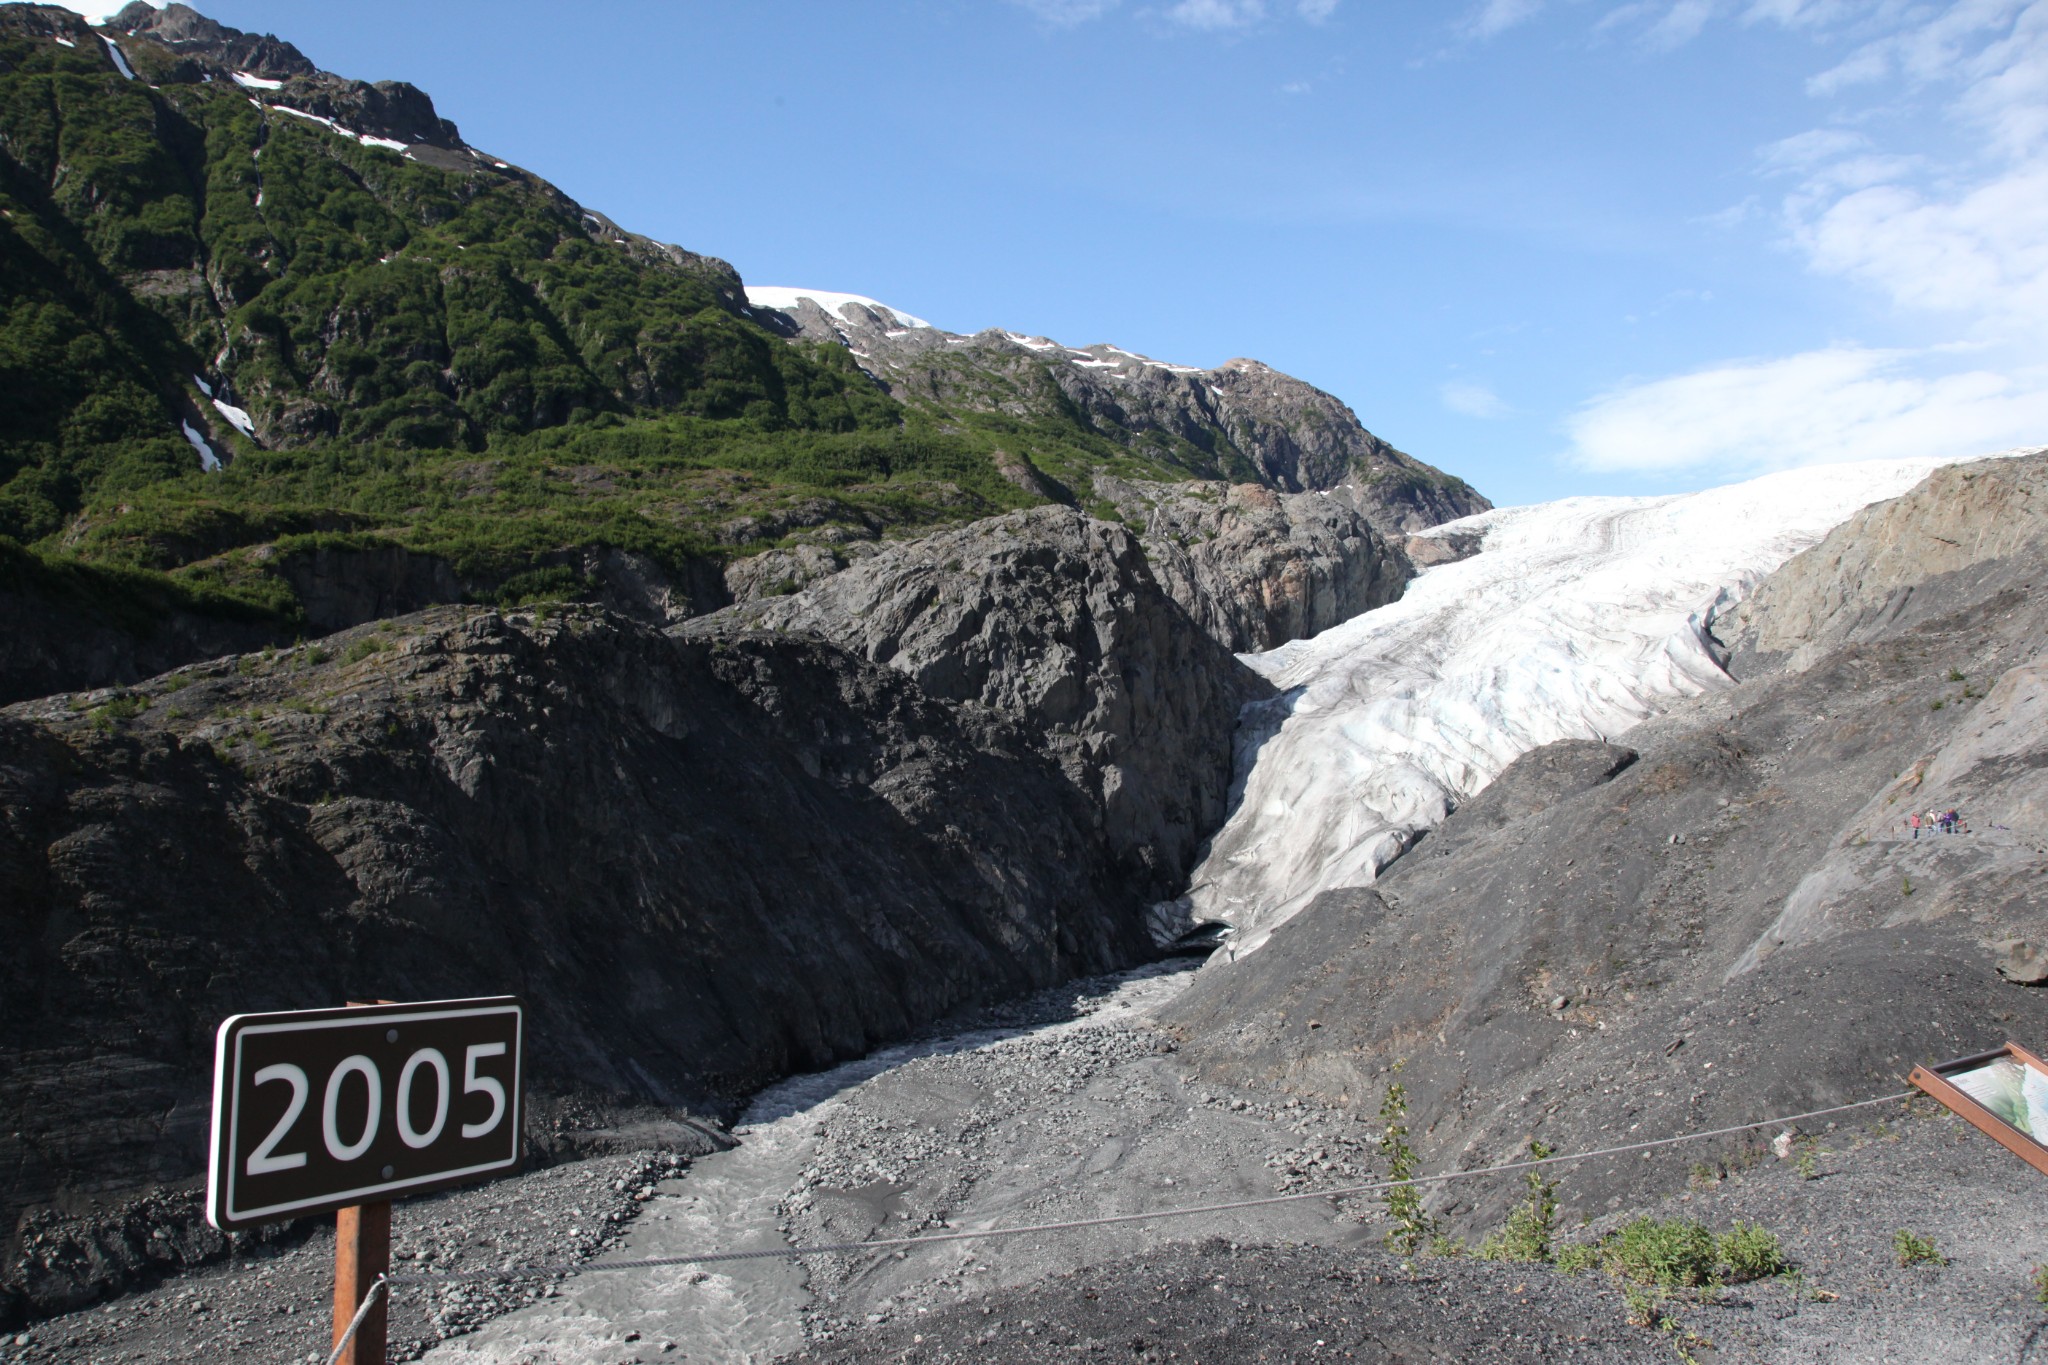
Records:
[[[2048,370],[1948,370],[1948,352],[1835,346],[1630,385],[1581,407],[1569,460],[1591,471],[1763,469],[1978,454],[2048,438]]]

